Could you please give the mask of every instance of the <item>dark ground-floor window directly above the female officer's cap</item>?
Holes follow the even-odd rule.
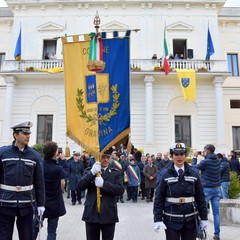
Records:
[[[175,116],[175,142],[185,143],[191,147],[191,117]]]

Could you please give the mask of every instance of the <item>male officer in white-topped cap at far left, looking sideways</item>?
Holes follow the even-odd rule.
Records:
[[[15,219],[20,240],[32,240],[33,206],[44,212],[40,154],[28,146],[32,123],[12,126],[12,145],[0,148],[0,239],[10,240]]]

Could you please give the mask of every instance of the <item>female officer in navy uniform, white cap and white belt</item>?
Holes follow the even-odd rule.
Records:
[[[204,230],[208,224],[203,187],[197,171],[185,161],[184,143],[174,143],[170,155],[172,163],[158,172],[154,231],[164,229],[166,240],[195,240],[198,226]]]

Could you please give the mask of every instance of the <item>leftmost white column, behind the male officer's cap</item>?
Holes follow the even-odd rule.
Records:
[[[4,119],[3,119],[3,127],[2,127],[2,143],[9,144],[12,141],[10,139],[10,131],[11,131],[11,116],[12,116],[12,97],[13,97],[13,89],[14,84],[16,83],[14,76],[7,76],[5,78],[5,82],[7,84],[6,88],[6,97],[5,97],[5,106],[4,106]]]

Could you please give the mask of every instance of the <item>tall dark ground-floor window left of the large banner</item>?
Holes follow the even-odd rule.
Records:
[[[52,141],[53,115],[38,115],[37,143]]]

